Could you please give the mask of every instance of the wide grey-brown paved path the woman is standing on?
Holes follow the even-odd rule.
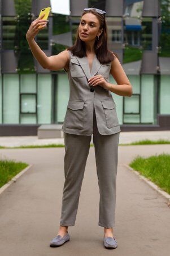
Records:
[[[170,208],[167,200],[124,167],[137,155],[170,153],[170,145],[119,146],[115,250],[103,246],[98,226],[99,189],[94,147],[90,147],[71,240],[59,248],[49,243],[58,232],[64,184],[64,148],[0,150],[33,164],[0,195],[2,256],[167,256],[170,251]]]

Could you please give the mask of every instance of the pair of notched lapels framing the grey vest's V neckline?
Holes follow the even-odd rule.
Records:
[[[86,78],[88,78],[88,80],[91,78],[91,76],[94,76],[95,74],[97,74],[97,71],[102,65],[98,61],[97,56],[95,55],[93,59],[92,67],[91,67],[91,73],[90,73],[88,58],[86,56],[82,58],[79,58],[77,56],[75,57],[77,58],[77,61],[79,61],[80,66],[82,67],[82,70],[85,72]]]

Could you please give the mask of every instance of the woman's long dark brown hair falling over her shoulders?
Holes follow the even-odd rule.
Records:
[[[104,63],[108,63],[108,62],[112,61],[113,59],[115,59],[115,56],[119,59],[119,57],[117,56],[116,53],[111,52],[111,50],[108,49],[108,45],[107,45],[108,32],[107,32],[106,19],[104,18],[104,16],[102,14],[99,14],[98,12],[96,12],[94,10],[83,11],[81,18],[84,14],[86,14],[88,12],[91,12],[92,14],[97,16],[99,23],[100,23],[100,29],[103,28],[103,31],[102,31],[101,35],[99,36],[99,40],[98,41],[95,40],[95,43],[94,43],[94,51],[98,58],[98,61],[100,63],[104,64]],[[72,45],[71,47],[67,48],[67,50],[70,50],[74,56],[77,56],[80,58],[87,56],[86,55],[86,44],[79,37],[79,27],[77,28],[77,32],[76,32],[75,44]]]

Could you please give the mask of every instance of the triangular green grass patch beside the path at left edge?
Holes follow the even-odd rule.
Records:
[[[0,187],[5,185],[27,166],[28,164],[26,163],[0,159]]]

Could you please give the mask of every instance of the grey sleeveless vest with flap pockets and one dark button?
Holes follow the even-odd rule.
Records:
[[[100,134],[110,135],[121,131],[111,92],[101,86],[91,87],[88,84],[91,76],[98,74],[109,82],[111,62],[101,64],[95,55],[90,73],[86,56],[79,58],[69,51],[69,57],[69,100],[62,131],[77,135],[93,134],[94,108]]]

